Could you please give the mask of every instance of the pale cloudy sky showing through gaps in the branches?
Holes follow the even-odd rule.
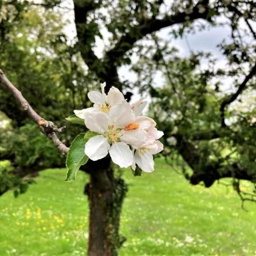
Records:
[[[73,8],[73,1],[72,0],[65,0],[62,4],[63,6]],[[105,10],[102,10],[102,12],[105,12]],[[70,38],[76,37],[76,27],[74,24],[74,12],[73,10],[70,10],[68,12],[68,15],[66,16],[71,22],[66,27],[65,32],[67,35],[69,35]],[[225,19],[222,17],[221,21],[224,21]],[[199,20],[199,22],[204,22],[202,20]],[[205,22],[206,23],[206,22]],[[243,24],[242,24],[243,25]],[[253,24],[254,27],[255,23]],[[227,65],[226,58],[224,55],[221,54],[219,49],[217,48],[217,45],[221,43],[221,41],[224,38],[230,37],[230,28],[228,26],[224,27],[212,27],[210,29],[204,30],[203,32],[197,32],[196,34],[189,34],[187,35],[187,38],[180,38],[176,40],[171,40],[171,35],[169,35],[169,32],[173,29],[172,27],[167,27],[165,29],[160,30],[157,32],[157,35],[161,38],[164,38],[165,40],[169,41],[170,47],[175,46],[179,49],[179,55],[180,57],[188,57],[190,55],[190,49],[193,50],[193,52],[197,51],[208,51],[211,52],[213,57],[217,59],[216,67],[218,68],[225,68]],[[96,38],[96,46],[93,48],[94,53],[101,58],[103,55],[103,51],[105,48],[105,45],[108,45],[108,37],[109,34],[107,32],[107,29],[102,29],[101,33],[103,35],[104,40],[101,40],[100,38]],[[146,43],[146,40],[143,39]],[[133,57],[132,62],[136,61],[136,56]],[[207,63],[202,63],[202,68],[206,66]],[[118,74],[121,80],[130,80],[131,82],[135,82],[137,80],[137,76],[135,73],[129,70],[130,66],[124,65],[121,66],[121,68],[118,69]],[[234,90],[232,78],[223,79],[222,81],[222,90],[224,90],[226,93],[230,93]],[[154,77],[154,84],[156,87],[161,87],[165,84],[165,77],[161,72],[158,72]],[[132,100],[135,101],[138,98],[140,98],[140,95],[138,94],[137,90],[133,91],[133,98]]]

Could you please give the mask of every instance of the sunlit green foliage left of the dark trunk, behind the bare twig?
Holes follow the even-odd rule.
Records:
[[[67,123],[65,116],[74,109],[87,107],[85,84],[92,79],[84,76],[80,55],[66,44],[64,26],[62,14],[39,5],[19,9],[13,23],[0,23],[5,32],[0,38],[1,69],[35,111],[59,127]],[[65,166],[65,158],[15,98],[2,89],[0,94],[0,159],[10,160],[23,171]],[[2,128],[1,121],[9,121],[8,126]],[[83,131],[82,126],[68,124],[65,134],[58,136],[69,145],[74,134]]]

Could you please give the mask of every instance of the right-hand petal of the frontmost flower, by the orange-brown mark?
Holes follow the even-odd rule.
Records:
[[[135,148],[140,148],[141,145],[149,138],[148,133],[142,129],[137,130],[121,130],[121,141],[132,145]]]

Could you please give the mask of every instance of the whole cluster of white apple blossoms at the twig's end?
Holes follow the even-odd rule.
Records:
[[[117,88],[110,88],[108,95],[104,88],[105,83],[101,84],[102,93],[88,93],[93,107],[74,110],[89,130],[98,133],[85,144],[85,154],[96,161],[109,153],[121,168],[131,166],[135,170],[137,164],[142,171],[154,171],[153,155],[163,150],[158,141],[163,132],[155,128],[153,119],[141,116],[147,102],[141,98],[130,105]]]

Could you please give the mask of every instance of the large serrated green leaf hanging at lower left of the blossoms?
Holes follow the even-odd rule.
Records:
[[[85,155],[84,136],[85,133],[80,133],[70,145],[68,156],[66,157],[68,172],[65,181],[67,182],[75,180],[80,166],[85,165],[88,161],[88,157]]]

